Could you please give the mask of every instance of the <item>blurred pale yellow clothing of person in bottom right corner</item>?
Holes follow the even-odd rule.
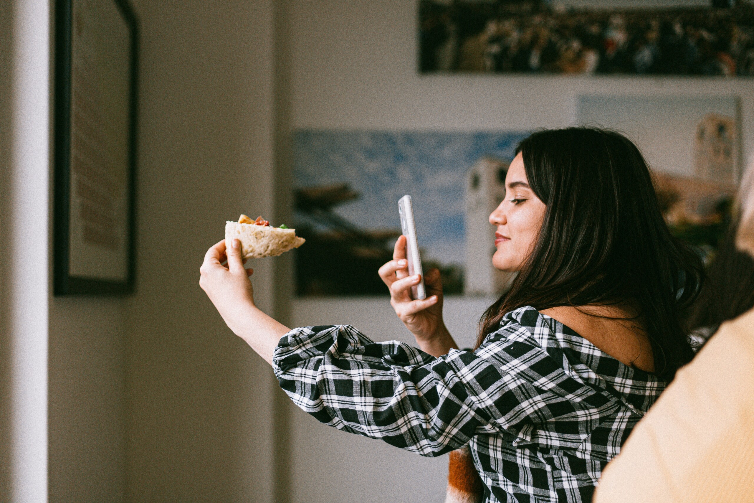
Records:
[[[754,501],[754,309],[679,370],[608,463],[594,501]]]

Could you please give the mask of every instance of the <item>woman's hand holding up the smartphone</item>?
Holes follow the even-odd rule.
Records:
[[[446,354],[452,348],[458,348],[443,321],[443,284],[440,271],[431,269],[425,275],[427,298],[414,300],[411,287],[415,287],[420,278],[409,276],[406,260],[406,237],[400,236],[395,243],[393,259],[379,268],[379,276],[390,290],[390,304],[400,321],[406,325],[418,342],[419,348],[434,356]]]

